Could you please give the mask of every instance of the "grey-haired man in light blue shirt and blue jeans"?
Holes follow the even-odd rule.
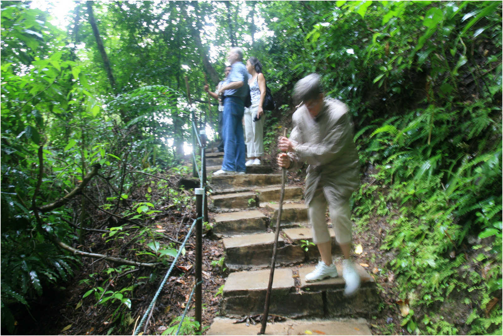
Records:
[[[244,100],[248,94],[248,71],[243,64],[243,50],[230,49],[227,60],[231,64],[229,75],[218,94],[223,95],[224,155],[222,169],[213,175],[245,174],[245,145],[243,125]]]

